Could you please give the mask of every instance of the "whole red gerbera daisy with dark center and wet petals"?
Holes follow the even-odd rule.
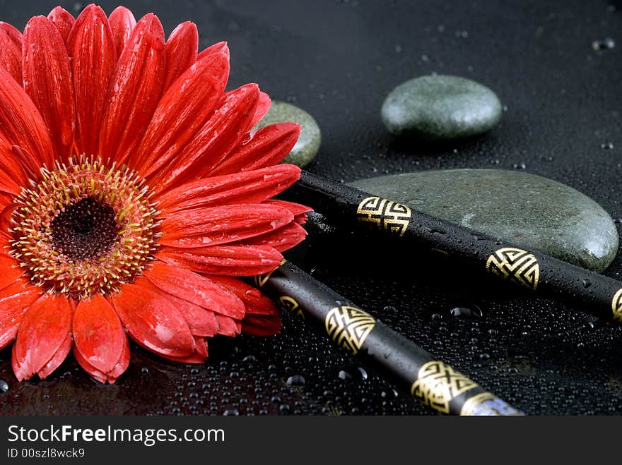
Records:
[[[249,132],[269,97],[225,92],[226,44],[198,43],[193,23],[165,40],[123,7],[0,23],[0,349],[15,341],[19,380],[73,349],[115,382],[127,334],[199,363],[206,337],[278,331],[239,277],[305,236],[308,209],[272,199],[300,175],[278,164],[300,128]]]

